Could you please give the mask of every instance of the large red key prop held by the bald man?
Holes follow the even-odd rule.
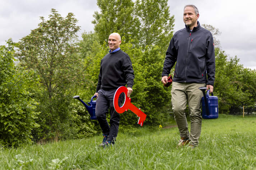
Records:
[[[124,111],[127,111],[128,109],[131,110],[133,113],[135,113],[138,117],[138,124],[141,126],[143,125],[143,122],[146,120],[146,114],[141,111],[141,109],[138,109],[136,106],[134,106],[131,103],[131,98],[127,97],[127,91],[128,89],[125,86],[120,86],[116,91],[114,95],[114,108],[117,113],[124,113]],[[119,107],[118,105],[118,98],[121,93],[125,94],[124,104]]]

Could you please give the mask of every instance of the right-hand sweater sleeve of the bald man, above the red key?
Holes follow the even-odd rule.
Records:
[[[134,72],[132,67],[131,58],[126,54],[123,60],[122,69],[124,71],[125,80],[127,83],[128,88],[132,88],[133,86],[133,79],[134,79]]]

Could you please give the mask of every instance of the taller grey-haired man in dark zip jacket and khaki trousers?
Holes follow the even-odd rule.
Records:
[[[172,84],[172,108],[180,132],[178,146],[195,147],[201,134],[201,98],[205,86],[213,91],[215,79],[215,54],[212,34],[197,21],[198,9],[195,5],[184,7],[184,29],[177,31],[170,41],[164,61],[162,82],[168,82],[168,75],[174,66]],[[184,110],[188,102],[191,120],[190,134]]]

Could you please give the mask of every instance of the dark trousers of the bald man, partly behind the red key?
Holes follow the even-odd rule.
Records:
[[[103,134],[108,134],[109,138],[108,141],[115,140],[118,128],[119,128],[119,121],[120,121],[120,115],[117,113],[114,109],[113,105],[113,99],[115,95],[114,90],[103,90],[100,89],[98,91],[98,97],[97,97],[97,103],[96,103],[96,117],[100,124],[100,127],[102,129]],[[122,102],[124,100],[124,94],[122,93],[118,99],[119,106],[122,106]],[[109,123],[106,120],[106,114],[108,113],[108,110],[110,109],[110,127]]]

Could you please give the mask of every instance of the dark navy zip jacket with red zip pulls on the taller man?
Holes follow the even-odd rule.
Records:
[[[170,41],[163,67],[168,76],[174,66],[174,82],[196,82],[214,85],[215,53],[212,34],[197,21],[192,32],[189,27],[177,31]],[[206,76],[207,72],[207,76]]]

